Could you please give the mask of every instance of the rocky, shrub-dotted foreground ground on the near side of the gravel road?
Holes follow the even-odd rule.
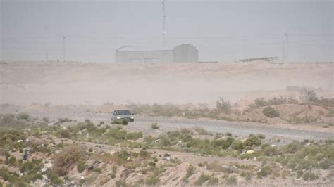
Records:
[[[144,124],[146,130],[140,131],[133,123],[76,119],[52,120],[20,111],[1,115],[1,183],[330,186],[334,182],[334,136],[315,141],[254,131],[215,133],[198,126],[170,129],[163,122]]]

